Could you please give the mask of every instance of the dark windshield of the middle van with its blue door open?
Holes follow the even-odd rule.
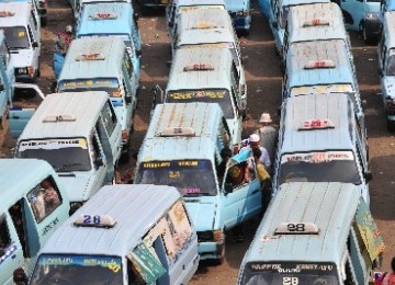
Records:
[[[176,186],[184,196],[216,195],[210,160],[142,162],[135,183]]]

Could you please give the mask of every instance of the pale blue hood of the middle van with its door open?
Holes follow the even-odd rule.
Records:
[[[185,200],[188,214],[190,215],[196,231],[213,230],[218,223],[218,204],[202,202],[200,200]]]

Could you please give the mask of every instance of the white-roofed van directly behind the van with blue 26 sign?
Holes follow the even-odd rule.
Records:
[[[48,94],[19,137],[15,157],[47,160],[75,210],[113,182],[121,134],[106,92]]]

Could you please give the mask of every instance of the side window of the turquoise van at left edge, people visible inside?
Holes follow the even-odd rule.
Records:
[[[36,221],[41,223],[61,204],[61,196],[54,179],[48,176],[29,192],[27,201]]]

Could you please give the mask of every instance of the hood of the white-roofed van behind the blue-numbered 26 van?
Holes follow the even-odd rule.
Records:
[[[69,174],[69,176],[66,176]],[[93,195],[90,175],[78,173],[65,173],[59,175],[61,184],[66,187],[68,198],[71,202],[86,202]]]

